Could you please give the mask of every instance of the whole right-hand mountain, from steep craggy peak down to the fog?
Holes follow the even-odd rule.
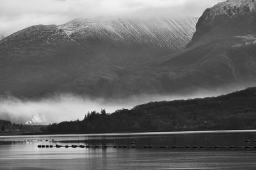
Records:
[[[169,71],[168,88],[178,84],[176,89],[227,90],[256,85],[255,8],[252,0],[228,0],[205,10],[186,52],[158,66]]]

